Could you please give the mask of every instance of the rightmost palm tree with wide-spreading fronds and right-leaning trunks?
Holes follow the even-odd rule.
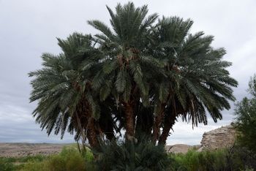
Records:
[[[225,69],[231,63],[222,61],[225,50],[211,47],[213,37],[203,32],[189,34],[192,20],[162,18],[154,30],[154,47],[148,53],[165,63],[165,75],[159,86],[159,112],[155,119],[153,137],[165,143],[168,133],[181,115],[184,120],[207,124],[206,110],[217,122],[220,110],[230,109],[227,99],[234,101],[230,87],[237,86],[236,80]],[[162,134],[159,127],[165,118]]]

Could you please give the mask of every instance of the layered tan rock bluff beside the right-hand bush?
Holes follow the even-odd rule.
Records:
[[[236,140],[236,130],[232,125],[222,126],[203,134],[201,145],[203,149],[230,147]]]

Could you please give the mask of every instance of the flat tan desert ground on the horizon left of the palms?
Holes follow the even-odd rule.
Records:
[[[0,142],[0,157],[50,155],[59,153],[64,145],[68,144]]]

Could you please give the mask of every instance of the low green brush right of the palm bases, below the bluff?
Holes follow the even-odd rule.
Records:
[[[189,151],[182,154],[170,154],[170,170],[180,171],[233,171],[256,169],[255,154],[246,148],[234,146],[233,148],[218,149],[215,151]]]

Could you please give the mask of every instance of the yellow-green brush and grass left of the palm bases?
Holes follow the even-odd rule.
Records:
[[[93,159],[89,150],[82,156],[75,145],[69,145],[50,156],[0,157],[0,171],[94,170]]]

